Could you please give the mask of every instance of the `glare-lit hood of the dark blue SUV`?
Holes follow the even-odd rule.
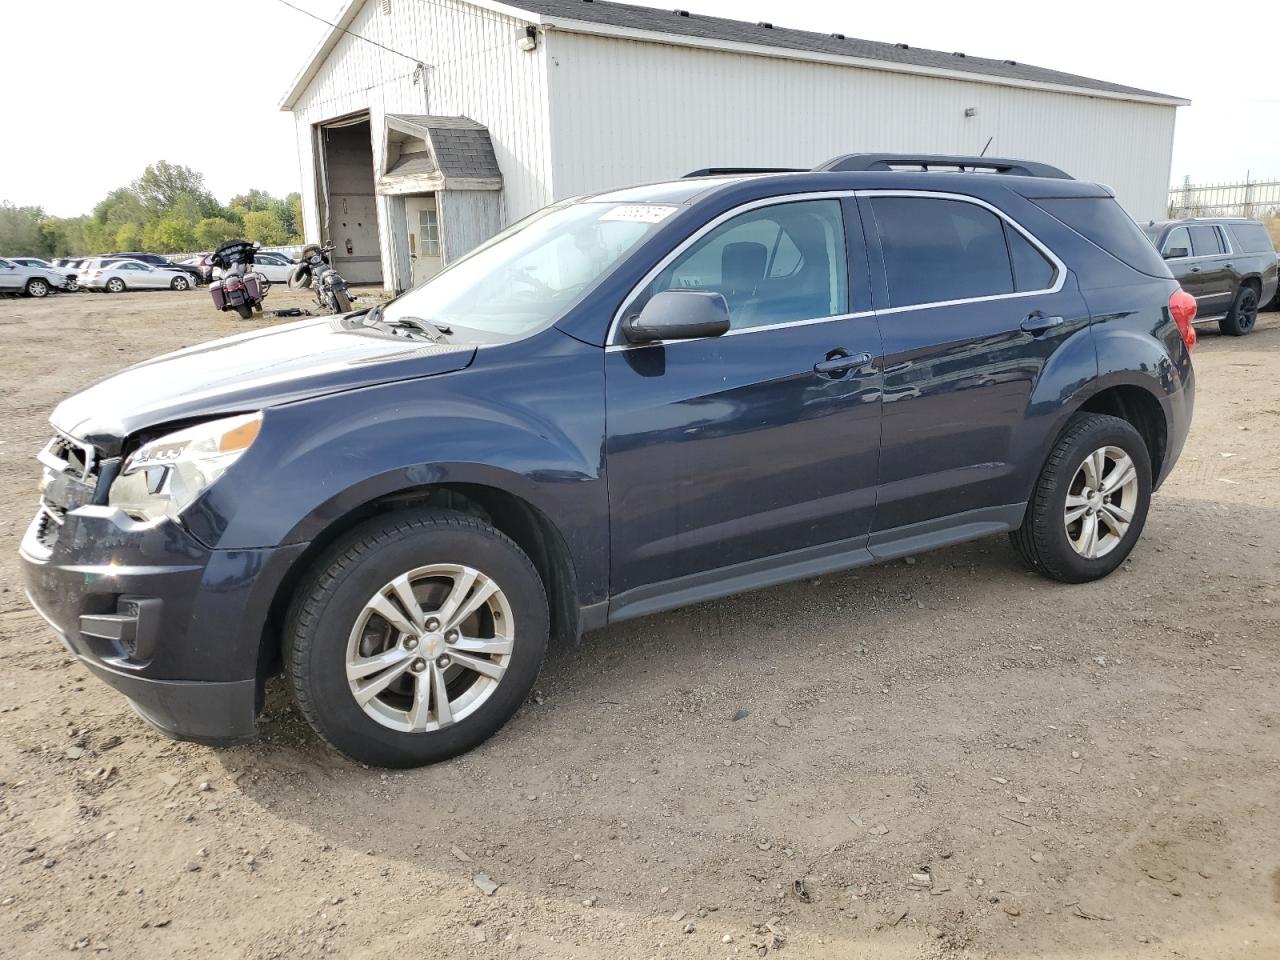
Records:
[[[56,430],[105,456],[148,426],[462,370],[474,343],[430,343],[314,317],[201,343],[101,380],[54,410]]]

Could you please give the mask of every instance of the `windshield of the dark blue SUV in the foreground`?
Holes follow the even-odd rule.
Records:
[[[557,320],[676,210],[599,201],[545,207],[388,303],[381,319],[522,337]]]

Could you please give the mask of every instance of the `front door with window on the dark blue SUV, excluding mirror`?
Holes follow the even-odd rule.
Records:
[[[614,613],[742,589],[783,567],[799,576],[863,549],[879,334],[865,266],[849,280],[846,214],[864,264],[851,201],[774,204],[704,233],[626,306],[663,289],[716,291],[731,329],[605,353]]]

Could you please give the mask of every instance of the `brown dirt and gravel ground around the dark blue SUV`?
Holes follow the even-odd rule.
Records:
[[[168,741],[24,600],[54,403],[239,329],[205,291],[0,301],[0,955],[1280,956],[1280,315],[1202,332],[1105,582],[991,539],[628,622],[394,773],[279,685],[256,744]]]

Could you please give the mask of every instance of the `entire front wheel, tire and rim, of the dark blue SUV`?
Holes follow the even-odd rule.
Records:
[[[493,736],[547,655],[529,557],[476,517],[404,511],[339,540],[300,586],[284,669],[311,727],[347,756],[419,767]]]

